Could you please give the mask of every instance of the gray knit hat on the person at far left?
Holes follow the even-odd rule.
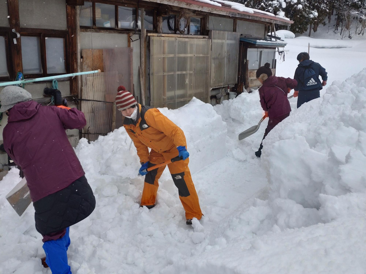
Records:
[[[20,102],[32,100],[32,95],[24,88],[8,85],[0,92],[0,112],[7,111]]]

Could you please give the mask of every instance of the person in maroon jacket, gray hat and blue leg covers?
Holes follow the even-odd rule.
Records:
[[[71,274],[69,227],[93,212],[95,197],[65,130],[82,129],[85,116],[75,108],[42,106],[16,86],[5,87],[0,101],[0,112],[8,115],[4,149],[23,170],[43,236],[42,265],[52,274]]]

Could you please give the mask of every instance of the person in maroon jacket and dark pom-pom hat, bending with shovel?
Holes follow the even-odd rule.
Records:
[[[257,70],[256,77],[262,84],[259,88],[261,106],[269,118],[261,145],[255,152],[255,156],[261,157],[264,138],[278,123],[290,115],[291,107],[287,94],[296,87],[297,81],[291,78],[272,76],[269,63],[265,63]]]

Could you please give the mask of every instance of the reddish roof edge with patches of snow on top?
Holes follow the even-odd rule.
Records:
[[[212,13],[217,14],[226,14],[229,16],[236,16],[238,17],[253,17],[251,19],[266,21],[266,22],[274,22],[277,24],[285,24],[290,25],[293,23],[290,19],[272,14],[266,11],[260,11],[259,9],[248,8],[243,4],[232,2],[232,1],[225,1],[225,0],[147,0],[156,3],[163,3],[169,4],[172,2],[172,5],[176,5],[179,7],[186,7],[190,9],[198,9],[201,11],[209,11]],[[201,7],[201,9],[197,8]],[[208,10],[208,8],[210,10]],[[256,18],[257,17],[257,18]]]

